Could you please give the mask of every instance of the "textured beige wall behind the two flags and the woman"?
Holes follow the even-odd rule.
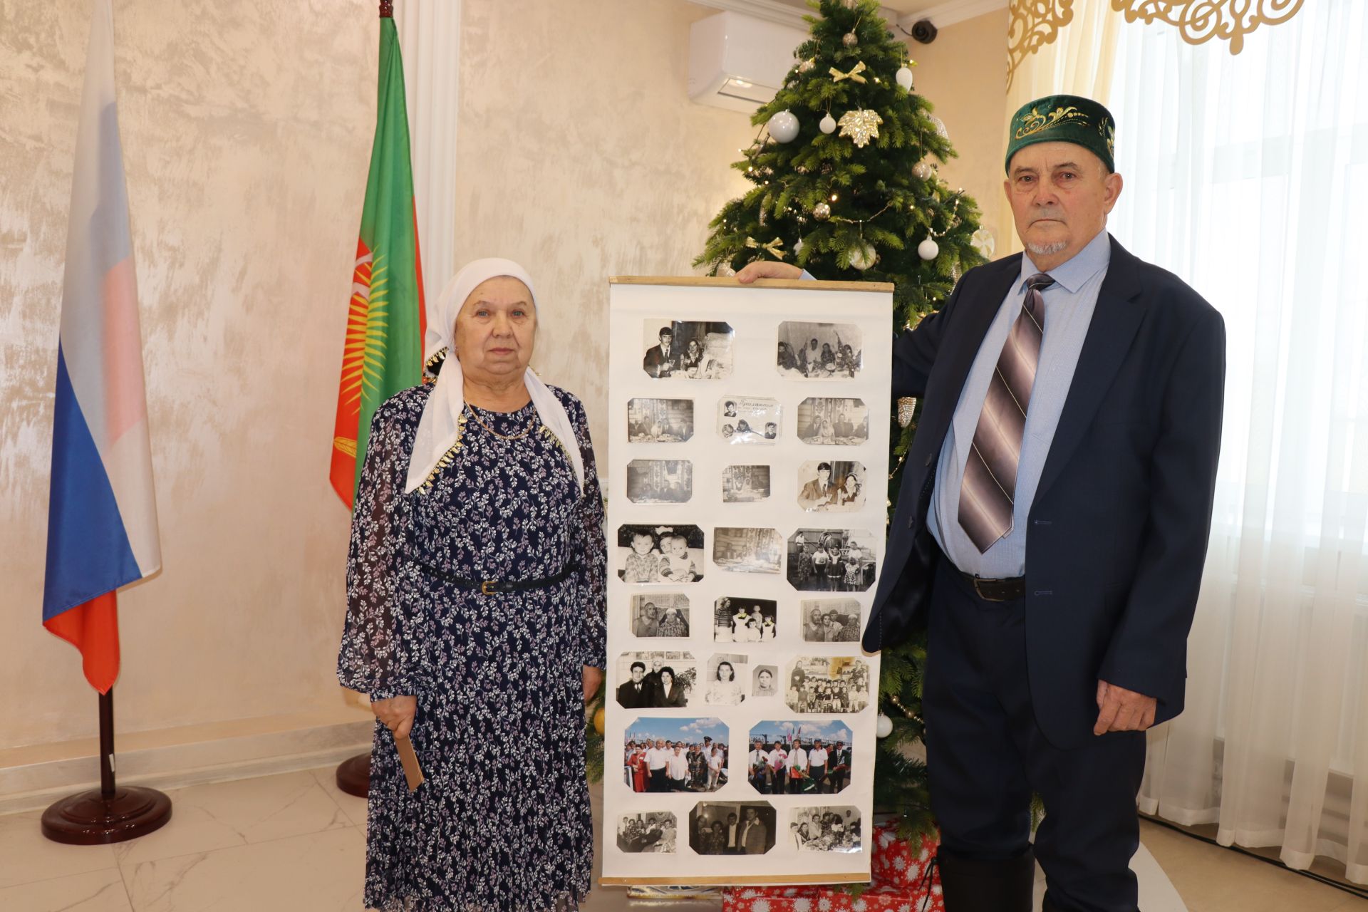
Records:
[[[119,0],[116,75],[164,570],[122,602],[126,732],[337,706],[327,485],[373,130],[373,3]],[[554,5],[554,12],[553,7]],[[751,127],[685,96],[680,0],[465,0],[457,261],[521,260],[536,365],[602,447],[606,276],[687,272]],[[94,727],[38,625],[89,7],[0,0],[0,748]]]

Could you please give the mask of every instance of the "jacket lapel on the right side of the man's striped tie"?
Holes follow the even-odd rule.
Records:
[[[1049,455],[1045,457],[1045,468],[1036,488],[1037,503],[1088,433],[1093,416],[1111,388],[1116,372],[1120,371],[1135,331],[1145,319],[1145,305],[1135,299],[1140,294],[1135,263],[1135,257],[1112,238],[1111,264],[1097,293],[1097,308],[1083,338],[1083,349],[1074,368],[1074,380],[1068,387],[1059,425],[1055,428]]]

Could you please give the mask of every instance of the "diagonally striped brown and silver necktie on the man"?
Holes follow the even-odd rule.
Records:
[[[1026,299],[997,357],[997,369],[974,428],[974,446],[964,464],[959,524],[981,552],[1012,529],[1022,432],[1045,331],[1045,301],[1040,293],[1052,284],[1055,280],[1044,272],[1026,280]]]

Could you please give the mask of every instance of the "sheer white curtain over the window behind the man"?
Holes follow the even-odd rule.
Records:
[[[1187,710],[1141,808],[1368,883],[1368,3],[1308,1],[1238,56],[1126,25],[1115,67],[1111,230],[1228,334]]]

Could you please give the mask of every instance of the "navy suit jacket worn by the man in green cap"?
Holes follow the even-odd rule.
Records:
[[[925,623],[940,548],[926,529],[941,444],[1021,254],[970,269],[893,345],[893,397],[921,397],[863,647]],[[1175,275],[1111,241],[1074,380],[1031,502],[1026,651],[1036,716],[1056,747],[1097,719],[1097,681],[1183,708],[1220,451],[1226,330]],[[932,656],[934,660],[934,656]]]

